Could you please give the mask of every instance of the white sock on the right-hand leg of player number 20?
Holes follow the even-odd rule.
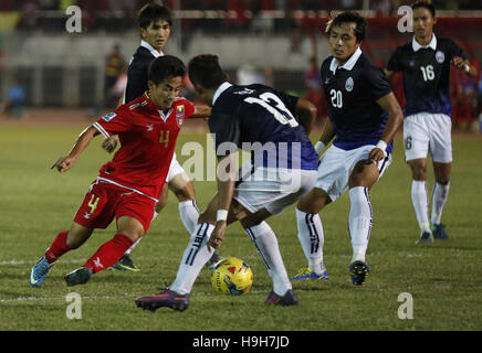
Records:
[[[350,203],[348,229],[353,247],[352,261],[365,261],[365,254],[368,247],[373,221],[368,188],[352,188],[348,191],[348,194]]]

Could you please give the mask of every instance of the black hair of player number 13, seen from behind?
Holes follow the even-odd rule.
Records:
[[[189,79],[205,88],[217,88],[226,81],[226,74],[219,65],[219,58],[212,54],[192,57],[188,64]]]

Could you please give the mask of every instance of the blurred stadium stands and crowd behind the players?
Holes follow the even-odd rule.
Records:
[[[216,52],[232,81],[266,83],[306,96],[321,119],[326,100],[319,65],[329,55],[323,30],[332,10],[359,10],[368,17],[363,50],[380,67],[396,46],[411,39],[397,30],[397,9],[411,3],[404,0],[0,0],[0,111],[9,108],[12,117],[21,117],[24,107],[66,106],[95,115],[115,106],[139,41],[136,12],[147,2],[174,10],[168,53],[187,61],[200,51]],[[454,40],[479,67],[482,0],[432,2],[439,17],[436,34]],[[76,38],[65,33],[71,6],[82,10]],[[75,60],[70,56],[73,47]],[[455,69],[451,76],[454,127],[479,131],[482,79]],[[404,105],[400,75],[391,84]]]

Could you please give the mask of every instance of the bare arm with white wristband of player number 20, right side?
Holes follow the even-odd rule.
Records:
[[[380,142],[378,142],[379,145],[370,151],[368,157],[376,162],[385,158],[385,149],[387,148],[387,145],[391,142],[404,122],[404,114],[401,113],[400,105],[392,92],[379,98],[377,104],[388,113],[388,120],[384,133],[381,135]]]

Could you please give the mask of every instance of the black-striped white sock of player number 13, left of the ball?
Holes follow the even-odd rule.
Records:
[[[176,280],[169,289],[179,293],[188,295],[191,292],[196,278],[198,278],[202,266],[211,258],[211,252],[208,250],[207,243],[211,236],[214,226],[209,223],[198,224],[195,232],[192,232],[188,246],[182,255],[179,265]]]

